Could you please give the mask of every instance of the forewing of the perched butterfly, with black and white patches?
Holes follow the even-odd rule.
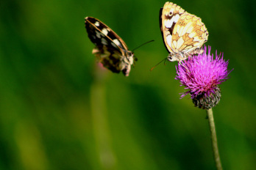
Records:
[[[160,30],[163,37],[163,42],[169,53],[174,53],[172,48],[172,36],[174,26],[179,21],[180,16],[185,12],[177,4],[166,2],[163,8],[160,9]]]

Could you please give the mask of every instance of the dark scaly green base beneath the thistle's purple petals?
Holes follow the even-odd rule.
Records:
[[[191,96],[193,96],[193,94],[191,94]],[[216,89],[214,89],[214,93],[210,93],[210,95],[206,95],[205,93],[197,95],[196,97],[193,97],[192,102],[195,105],[195,107],[202,109],[210,109],[215,107],[220,100],[221,89],[218,86],[216,86]]]

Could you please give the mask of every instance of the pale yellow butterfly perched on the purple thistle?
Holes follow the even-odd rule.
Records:
[[[170,62],[180,62],[188,56],[202,53],[201,47],[208,40],[208,32],[201,18],[168,1],[160,9],[160,30]]]

